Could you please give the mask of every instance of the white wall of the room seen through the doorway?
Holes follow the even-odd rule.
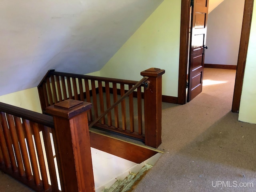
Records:
[[[224,0],[208,15],[204,63],[237,65],[244,0]]]

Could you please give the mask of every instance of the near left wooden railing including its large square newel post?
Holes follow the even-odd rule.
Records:
[[[90,108],[66,100],[46,108],[52,118],[0,103],[0,170],[38,192],[95,191]]]

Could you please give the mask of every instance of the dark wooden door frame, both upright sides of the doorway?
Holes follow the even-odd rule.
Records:
[[[242,84],[244,79],[244,69],[248,50],[250,28],[252,23],[252,10],[254,0],[245,0],[244,16],[242,22],[242,32],[240,48],[238,53],[238,63],[236,70],[236,80],[232,103],[232,112],[238,112],[242,94]],[[180,20],[180,60],[179,60],[179,80],[178,80],[178,104],[186,104],[186,82],[188,68],[188,45],[189,45],[189,21],[190,21],[190,0],[181,0],[181,20]]]

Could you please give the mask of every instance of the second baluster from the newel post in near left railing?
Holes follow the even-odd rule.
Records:
[[[44,162],[44,154],[43,154],[38,124],[34,123],[34,122],[30,122],[30,124],[31,124],[33,132],[34,132],[34,140],[35,140],[35,144],[36,144],[36,152],[37,152],[38,162],[39,162],[39,166],[40,166],[40,172],[41,172],[41,176],[42,176],[42,183],[44,186],[44,190],[48,190],[49,183],[48,183],[48,177],[47,177],[47,172],[46,172],[46,166],[45,166],[45,162]]]

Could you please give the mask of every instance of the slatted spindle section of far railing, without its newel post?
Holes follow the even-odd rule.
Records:
[[[89,122],[93,122],[107,108],[110,108],[118,100],[118,95],[123,96],[128,91],[125,89],[126,87],[130,89],[136,84],[136,82],[127,80],[118,82],[116,80],[112,81],[112,79],[92,78],[92,76],[62,75],[60,72],[50,72],[46,78],[45,83],[43,82],[39,86],[41,88],[38,88],[42,95],[40,98],[43,98],[45,107],[68,98],[92,102],[93,107],[88,111]],[[138,101],[138,114],[134,113],[134,96],[140,99]],[[142,93],[141,87],[139,87],[137,94],[136,92],[135,94],[130,94],[127,100],[123,100],[119,107],[116,106],[113,109],[113,112],[108,112],[100,120],[100,124],[97,125],[101,125],[102,128],[109,130],[126,133],[130,136],[133,136],[135,132],[136,137],[139,136],[140,139],[144,140],[141,99]],[[43,106],[42,109],[44,111]],[[138,115],[138,118],[136,118],[136,126],[138,124],[138,128],[136,127],[136,129],[135,115]],[[128,121],[129,124],[127,124]]]

